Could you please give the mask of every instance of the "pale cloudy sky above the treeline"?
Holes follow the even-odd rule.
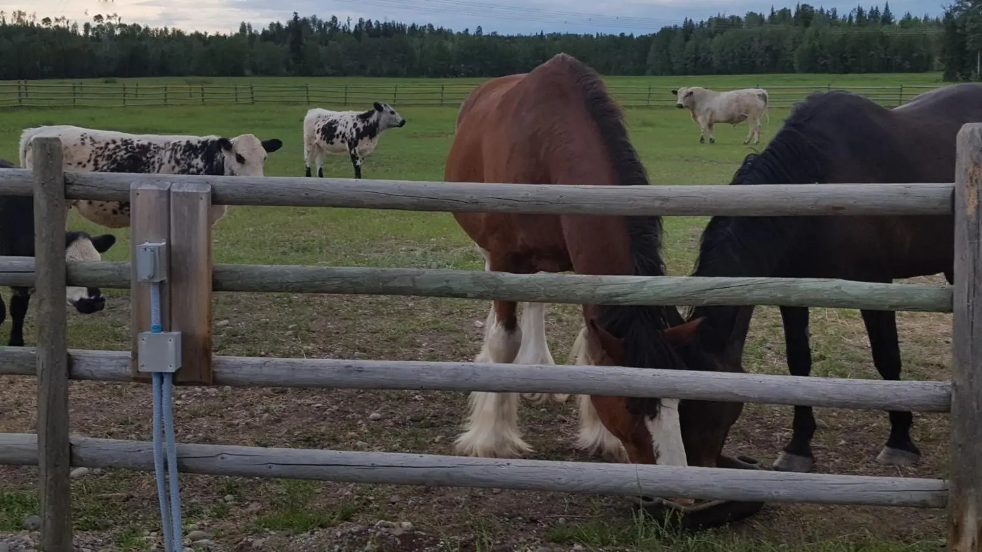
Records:
[[[868,8],[874,2],[861,3]],[[773,5],[793,8],[795,3],[785,0]],[[840,12],[856,6],[854,1],[840,0],[812,4]],[[906,11],[935,16],[943,13],[944,4],[944,0],[894,0],[890,8],[897,17]],[[332,15],[341,20],[388,19],[455,30],[481,25],[484,32],[645,33],[686,17],[700,20],[718,13],[767,12],[771,5],[752,0],[0,0],[0,11],[23,10],[38,18],[65,16],[80,22],[115,12],[125,23],[222,32],[238,28],[243,21],[256,26],[285,21],[296,11],[324,19]]]

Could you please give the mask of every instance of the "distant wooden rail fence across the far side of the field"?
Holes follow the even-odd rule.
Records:
[[[686,78],[693,85],[698,78]],[[816,91],[848,90],[885,106],[898,106],[918,94],[936,88],[930,85],[899,86],[763,86],[773,107],[789,107]],[[355,106],[372,102],[396,106],[459,106],[474,84],[139,84],[138,82],[46,83],[0,82],[0,108],[30,107],[150,107],[194,105],[293,104]],[[627,107],[673,107],[670,86],[612,85],[611,93]],[[715,88],[725,90],[727,88]]]

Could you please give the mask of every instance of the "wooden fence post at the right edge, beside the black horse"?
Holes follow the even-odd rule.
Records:
[[[952,552],[982,550],[982,124],[958,132],[955,165],[955,304],[952,358]]]

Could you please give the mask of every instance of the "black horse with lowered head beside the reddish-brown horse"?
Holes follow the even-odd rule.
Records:
[[[951,182],[955,136],[961,125],[973,122],[982,122],[980,84],[933,90],[896,109],[847,92],[813,94],[796,106],[761,154],[746,157],[732,183]],[[953,226],[951,216],[714,217],[702,234],[695,276],[890,282],[944,273],[951,282]],[[877,371],[884,379],[900,379],[895,313],[861,313]],[[682,350],[686,365],[739,371],[751,314],[752,307],[694,309],[689,320],[702,319],[702,324]],[[808,376],[808,309],[785,307],[781,316],[791,375]],[[682,401],[682,427],[692,438],[725,432],[738,413],[716,413],[716,420],[697,414],[686,417]],[[890,413],[890,437],[877,460],[900,466],[917,462],[912,419],[909,412]],[[811,407],[794,407],[793,436],[775,469],[809,471],[814,431]]]

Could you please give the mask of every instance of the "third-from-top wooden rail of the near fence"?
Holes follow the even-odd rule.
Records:
[[[73,379],[130,381],[129,351],[70,351]],[[32,376],[36,357],[0,347],[0,375]],[[639,368],[455,362],[214,357],[214,384],[314,389],[414,389],[661,397],[948,412],[948,381],[883,381]]]

